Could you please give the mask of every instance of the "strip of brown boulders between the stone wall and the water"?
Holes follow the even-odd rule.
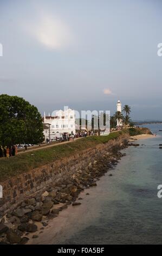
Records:
[[[35,232],[43,232],[49,220],[57,217],[59,212],[68,205],[73,207],[81,204],[81,191],[96,186],[102,175],[111,171],[122,156],[121,149],[128,147],[128,140],[113,145],[111,150],[98,160],[87,163],[87,168],[76,170],[69,180],[49,186],[46,191],[33,198],[25,199],[15,210],[9,210],[0,220],[0,244],[24,244],[38,236]],[[110,172],[109,176],[113,174]],[[88,196],[88,192],[87,192]]]

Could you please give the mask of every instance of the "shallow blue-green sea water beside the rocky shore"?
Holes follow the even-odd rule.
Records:
[[[112,170],[113,176],[108,172],[101,178],[86,202],[85,213],[74,217],[68,238],[60,236],[58,243],[162,243],[162,198],[157,197],[162,184],[162,124],[144,126],[157,137],[123,150],[126,156]]]

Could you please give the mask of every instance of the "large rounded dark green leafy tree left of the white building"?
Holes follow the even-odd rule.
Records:
[[[22,97],[0,95],[0,143],[36,144],[43,141],[43,124],[37,108]]]

